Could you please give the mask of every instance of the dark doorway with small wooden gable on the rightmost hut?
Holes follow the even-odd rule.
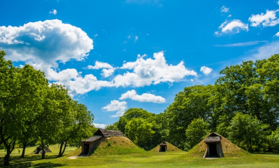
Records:
[[[212,132],[207,136],[205,140],[205,143],[207,144],[207,149],[204,158],[223,157],[223,150],[220,138],[221,135],[215,132]]]

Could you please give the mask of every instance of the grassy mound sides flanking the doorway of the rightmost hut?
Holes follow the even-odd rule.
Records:
[[[207,149],[207,144],[204,142],[205,140],[206,138],[203,139],[202,142],[200,142],[198,145],[194,146],[193,149],[191,149],[186,154],[186,156],[203,158]],[[233,144],[225,137],[221,136],[220,140],[221,140],[224,157],[240,157],[240,156],[250,155],[248,152],[239,148],[238,146]]]

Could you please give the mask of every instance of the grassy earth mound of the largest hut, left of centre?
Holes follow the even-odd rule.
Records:
[[[143,149],[135,145],[130,139],[122,136],[103,137],[99,140],[98,147],[91,151],[91,156],[143,154]]]

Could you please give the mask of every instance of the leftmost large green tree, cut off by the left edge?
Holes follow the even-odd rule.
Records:
[[[48,83],[42,72],[30,65],[15,68],[4,55],[5,52],[0,51],[0,143],[7,151],[4,165],[9,165],[16,140],[33,125],[34,109],[39,106],[41,90]]]

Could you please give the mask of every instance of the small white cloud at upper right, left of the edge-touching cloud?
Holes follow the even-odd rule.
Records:
[[[222,23],[219,27],[221,29],[221,33],[215,32],[215,35],[221,35],[222,33],[234,32],[239,33],[242,30],[248,31],[248,24],[244,24],[241,20],[234,19],[231,22],[227,20]]]

